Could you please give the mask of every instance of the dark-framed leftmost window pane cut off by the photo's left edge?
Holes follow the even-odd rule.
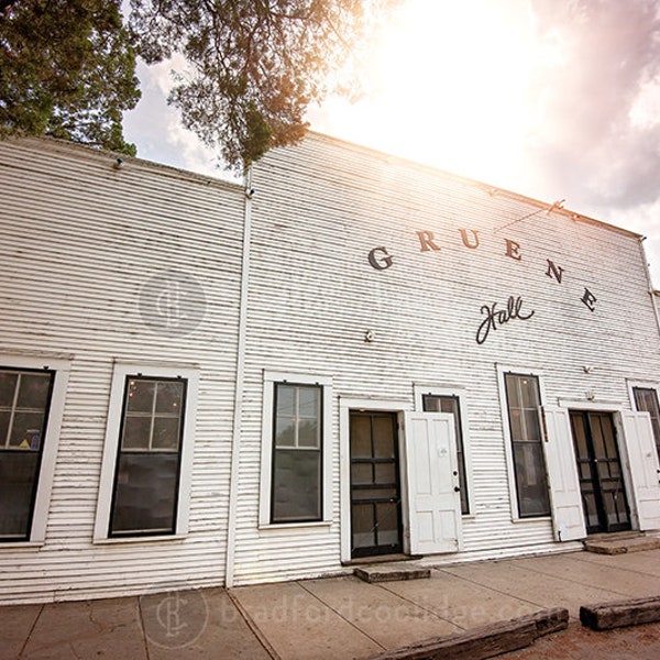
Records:
[[[0,540],[29,540],[55,372],[0,367]]]

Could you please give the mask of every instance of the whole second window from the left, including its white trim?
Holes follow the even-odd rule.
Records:
[[[188,530],[199,375],[116,364],[95,540]]]

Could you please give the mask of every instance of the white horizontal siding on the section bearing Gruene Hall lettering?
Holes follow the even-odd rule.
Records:
[[[464,386],[474,515],[464,520],[465,552],[457,558],[553,548],[548,520],[512,521],[495,364],[542,371],[548,403],[585,400],[593,389],[597,399],[627,406],[625,378],[658,378],[637,234],[547,215],[550,205],[490,195],[483,184],[315,134],[267,154],[252,183],[237,582],[341,570],[339,406],[329,439],[332,527],[256,528],[264,369],[331,375],[336,397],[413,403],[414,383]],[[481,232],[479,249],[463,246],[460,228]],[[420,252],[418,230],[432,231],[441,251]],[[505,239],[520,244],[520,262],[505,255]],[[394,257],[387,271],[366,261],[377,246]],[[546,276],[548,258],[564,268],[562,284]],[[598,299],[594,312],[581,302],[585,287]],[[535,318],[510,321],[477,345],[481,306],[510,295],[522,296]],[[363,341],[367,329],[373,343]]]

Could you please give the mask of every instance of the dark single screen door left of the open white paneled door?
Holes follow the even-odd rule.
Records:
[[[351,556],[402,549],[396,414],[351,411]]]

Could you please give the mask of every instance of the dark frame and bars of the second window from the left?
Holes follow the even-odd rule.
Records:
[[[127,422],[127,413],[128,413],[128,400],[129,400],[129,389],[131,381],[143,381],[143,382],[153,382],[153,383],[182,383],[183,384],[183,393],[182,393],[182,413],[179,417],[179,429],[178,429],[178,449],[176,452],[174,451],[153,451],[148,450],[128,450],[124,453],[129,454],[174,454],[177,453],[176,461],[176,479],[174,484],[174,504],[173,504],[173,515],[172,515],[172,526],[168,529],[163,528],[154,528],[154,529],[143,529],[143,530],[114,530],[114,507],[117,505],[118,497],[118,480],[120,473],[120,462],[122,455],[122,443],[124,438],[125,422]],[[112,495],[110,498],[110,513],[108,517],[108,538],[133,538],[133,537],[152,537],[152,536],[173,536],[176,534],[177,520],[179,515],[179,495],[180,495],[180,482],[182,482],[182,463],[184,457],[184,441],[185,441],[185,427],[186,427],[186,414],[187,414],[187,403],[188,403],[188,387],[189,382],[188,378],[183,377],[169,377],[169,376],[150,376],[144,374],[127,374],[124,376],[123,384],[123,394],[122,394],[122,404],[121,404],[121,414],[120,414],[120,424],[119,424],[119,439],[117,442],[117,455],[114,460],[114,473],[113,473],[113,483],[112,483]],[[157,389],[157,387],[156,387]],[[156,393],[154,392],[154,396]],[[150,430],[150,437],[153,437],[153,420],[155,416],[152,417],[152,426]]]

